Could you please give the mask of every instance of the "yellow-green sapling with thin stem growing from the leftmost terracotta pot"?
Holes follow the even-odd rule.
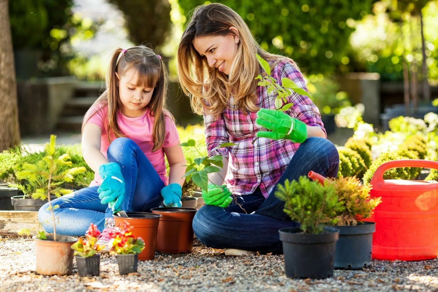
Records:
[[[69,160],[70,155],[57,155],[55,144],[56,135],[50,135],[50,142],[46,144],[44,149],[46,156],[35,165],[30,163],[23,164],[23,169],[16,173],[19,179],[26,179],[29,182],[37,182],[41,179],[47,181],[46,186],[40,187],[32,193],[32,198],[40,199],[42,201],[47,199],[49,201],[49,207],[47,210],[50,210],[53,220],[53,241],[56,241],[56,222],[53,210],[59,208],[59,205],[52,205],[50,195],[60,197],[67,193],[71,193],[71,190],[65,190],[60,185],[65,182],[72,182],[74,176],[86,171],[85,167],[73,167],[60,172],[59,168],[71,166],[71,161]]]

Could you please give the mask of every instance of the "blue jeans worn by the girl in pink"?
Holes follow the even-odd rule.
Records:
[[[143,151],[128,138],[115,139],[108,148],[109,162],[120,165],[125,179],[125,196],[120,206],[128,212],[149,212],[162,203],[161,189],[164,183]],[[57,233],[68,236],[84,236],[90,223],[103,230],[105,218],[111,218],[113,211],[108,204],[101,204],[97,189],[89,186],[74,193],[59,197],[51,203],[54,209]],[[53,233],[53,220],[49,204],[39,209],[39,222],[46,232]]]

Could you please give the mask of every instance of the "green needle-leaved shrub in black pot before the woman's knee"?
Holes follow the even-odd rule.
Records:
[[[279,230],[287,277],[332,277],[339,230],[323,224],[335,224],[336,214],[344,209],[334,187],[301,176],[297,181],[286,179],[275,195],[285,201],[284,212],[300,223]]]

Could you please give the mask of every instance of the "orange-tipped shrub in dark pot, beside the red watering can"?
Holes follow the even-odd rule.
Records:
[[[369,218],[381,203],[380,197],[371,199],[371,185],[364,186],[356,177],[328,180],[335,188],[339,202],[344,206],[336,215],[335,228],[339,229],[336,243],[335,268],[360,269],[371,264],[371,246],[376,223],[357,221]]]

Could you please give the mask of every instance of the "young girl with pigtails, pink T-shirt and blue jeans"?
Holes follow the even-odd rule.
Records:
[[[166,74],[161,56],[146,46],[113,52],[106,90],[82,124],[82,153],[95,180],[52,202],[59,205],[54,210],[58,233],[83,236],[90,223],[99,230],[111,228],[113,212],[149,212],[163,200],[166,206],[181,206],[185,159],[166,110]],[[39,222],[53,232],[47,207],[39,210]],[[100,244],[109,240],[108,228]]]

